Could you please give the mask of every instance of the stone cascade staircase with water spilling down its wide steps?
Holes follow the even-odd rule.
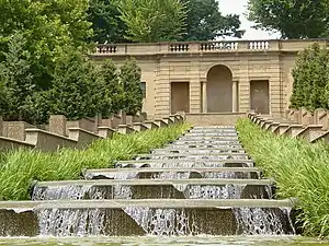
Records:
[[[195,127],[166,145],[34,184],[32,200],[0,202],[0,235],[293,234],[294,200],[275,200],[234,127]],[[29,226],[26,226],[29,225]]]

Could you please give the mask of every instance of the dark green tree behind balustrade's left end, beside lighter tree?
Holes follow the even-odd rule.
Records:
[[[117,0],[92,0],[88,10],[88,21],[92,23],[92,40],[100,44],[127,43],[124,37],[127,26],[121,20]]]

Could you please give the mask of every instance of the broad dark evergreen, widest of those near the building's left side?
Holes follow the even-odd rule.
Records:
[[[49,114],[80,119],[101,112],[102,83],[94,66],[81,52],[72,49],[61,51],[56,60],[52,84],[52,89],[43,95],[48,101]]]

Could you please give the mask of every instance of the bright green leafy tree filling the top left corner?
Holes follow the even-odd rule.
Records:
[[[86,40],[92,30],[87,21],[87,10],[88,0],[2,0],[0,48],[8,50],[10,37],[20,32],[26,39],[25,49],[31,54],[34,83],[47,89],[60,48],[89,48]]]

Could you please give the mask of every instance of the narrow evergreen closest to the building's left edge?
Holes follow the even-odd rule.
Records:
[[[124,109],[129,115],[141,110],[143,92],[140,89],[140,68],[135,59],[126,60],[121,67],[121,83],[124,89]]]

